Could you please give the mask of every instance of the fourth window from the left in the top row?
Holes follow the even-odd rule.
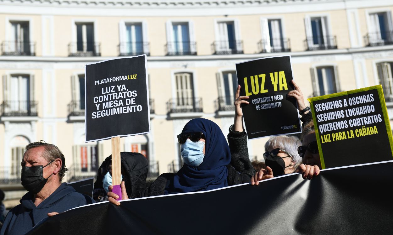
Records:
[[[196,55],[192,22],[168,22],[167,31],[167,55]]]

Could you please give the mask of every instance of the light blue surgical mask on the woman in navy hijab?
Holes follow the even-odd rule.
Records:
[[[180,155],[182,155],[184,163],[188,166],[199,166],[203,162],[203,146],[205,145],[202,141],[193,142],[187,139],[182,144]]]

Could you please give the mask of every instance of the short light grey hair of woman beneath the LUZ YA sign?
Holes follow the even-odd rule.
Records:
[[[292,164],[296,170],[301,164],[301,157],[298,153],[299,144],[299,138],[296,136],[274,136],[265,143],[265,152],[268,152],[268,149],[282,148],[292,156]]]

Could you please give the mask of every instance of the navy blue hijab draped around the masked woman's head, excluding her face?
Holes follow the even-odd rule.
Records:
[[[173,182],[165,187],[165,194],[206,191],[228,186],[228,169],[231,152],[219,126],[204,118],[196,118],[185,124],[182,133],[203,132],[206,137],[205,157],[196,167],[183,167]]]

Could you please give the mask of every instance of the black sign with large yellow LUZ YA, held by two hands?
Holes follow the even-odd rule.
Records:
[[[236,64],[248,139],[301,132],[299,112],[286,94],[293,90],[290,56],[275,56]]]

